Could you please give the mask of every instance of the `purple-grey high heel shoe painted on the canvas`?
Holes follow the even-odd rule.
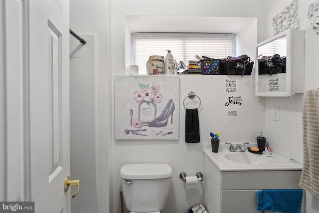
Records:
[[[167,125],[168,117],[170,116],[170,123],[173,123],[173,112],[175,105],[172,99],[169,99],[168,103],[161,111],[160,116],[149,123],[149,127],[164,127]]]

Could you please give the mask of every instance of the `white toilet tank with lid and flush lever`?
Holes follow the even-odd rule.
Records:
[[[120,176],[126,208],[131,213],[160,213],[166,205],[171,175],[168,164],[123,165]]]

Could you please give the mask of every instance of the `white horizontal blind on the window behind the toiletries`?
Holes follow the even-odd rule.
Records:
[[[225,33],[132,33],[133,61],[139,74],[147,74],[146,63],[151,55],[166,57],[170,50],[177,63],[197,60],[195,55],[210,58],[233,56],[234,34]]]

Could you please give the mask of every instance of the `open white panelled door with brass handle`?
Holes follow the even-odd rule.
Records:
[[[69,213],[69,0],[0,4],[0,201]]]

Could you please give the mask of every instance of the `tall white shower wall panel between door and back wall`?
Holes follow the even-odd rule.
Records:
[[[98,207],[97,182],[92,181],[97,180],[98,174],[95,134],[96,37],[78,35],[86,44],[70,35],[70,177],[81,180],[81,193],[71,200],[71,210],[73,213],[87,213],[97,212]],[[83,156],[92,156],[92,160]]]

